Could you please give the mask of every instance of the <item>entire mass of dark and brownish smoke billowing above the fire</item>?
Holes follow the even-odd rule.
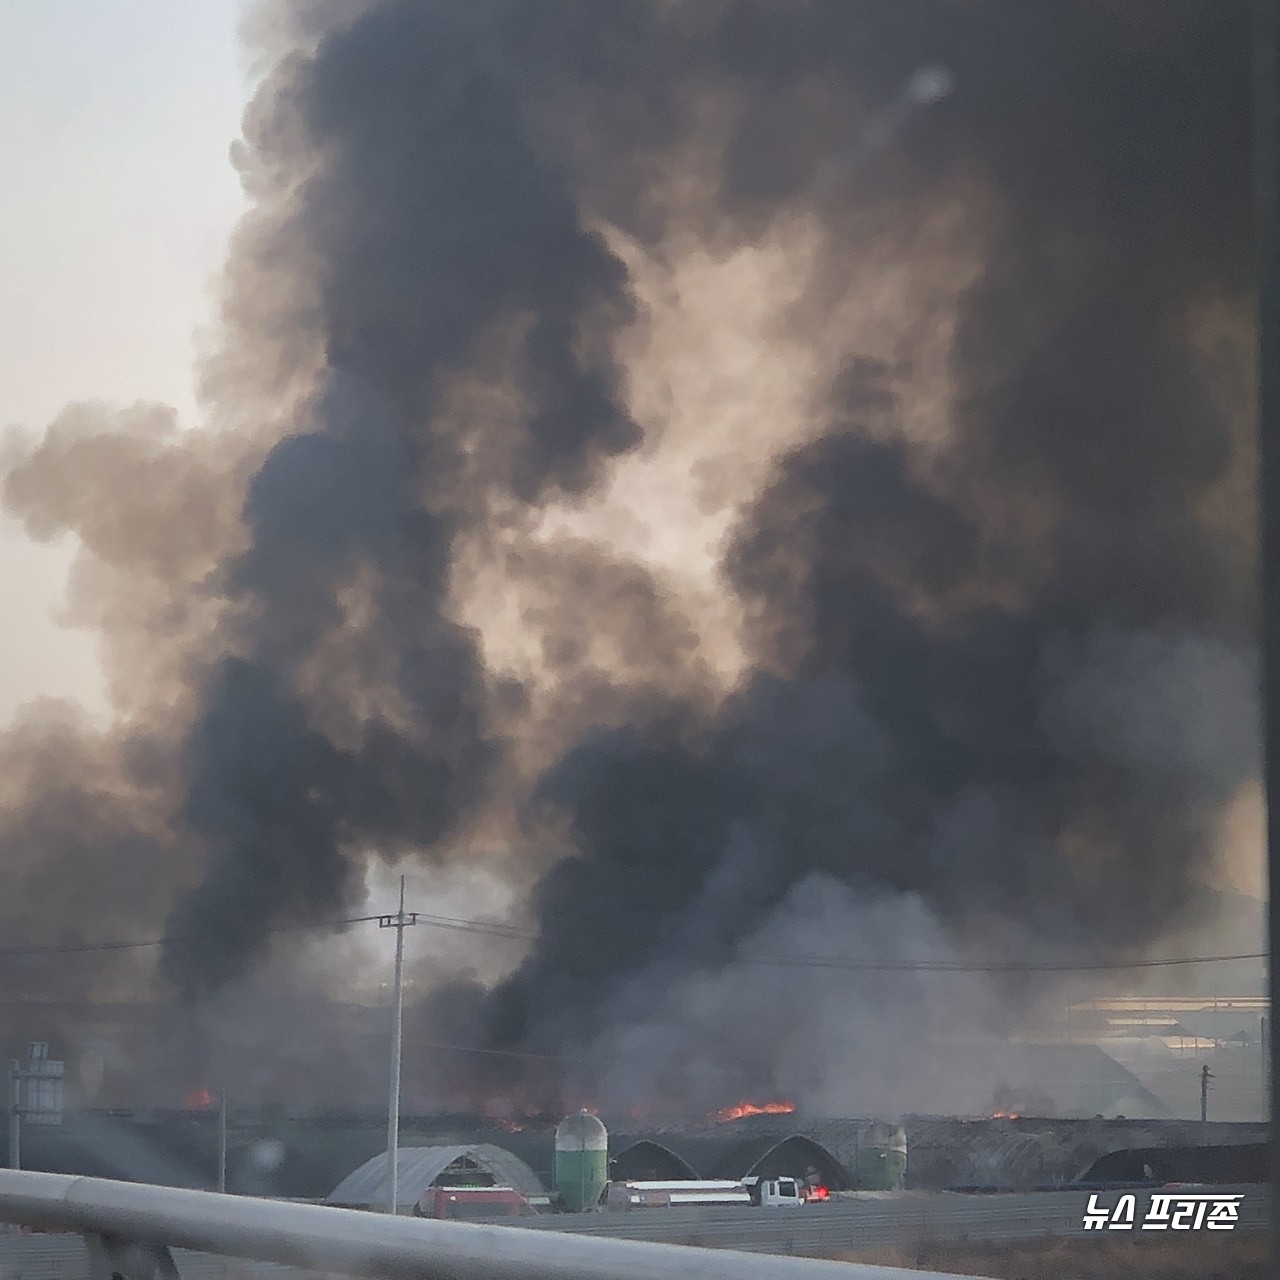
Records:
[[[33,534],[82,536],[109,663],[154,677],[120,676],[128,730],[101,741],[15,731],[45,744],[0,827],[15,938],[35,863],[92,865],[146,886],[97,928],[161,925],[197,996],[355,902],[371,852],[553,831],[527,959],[419,1015],[513,1056],[442,1091],[835,1106],[787,1046],[878,1062],[902,1010],[943,1032],[996,1019],[989,991],[797,1001],[754,955],[1129,956],[1201,910],[1257,769],[1252,463],[1210,332],[1247,308],[1243,3],[264,12],[287,51],[246,116],[209,370],[234,430],[70,421],[9,470]],[[936,317],[884,361],[841,306],[946,210],[901,285],[910,310],[963,282],[922,430]],[[800,224],[819,248],[777,330],[833,371],[721,548],[726,692],[658,577],[623,559],[611,586],[612,550],[531,531],[653,443],[618,246]],[[122,458],[166,497],[93,479]],[[477,554],[536,577],[558,707],[461,621]]]

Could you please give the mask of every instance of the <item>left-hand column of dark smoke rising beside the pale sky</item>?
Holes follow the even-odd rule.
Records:
[[[227,657],[183,749],[207,872],[164,956],[188,993],[243,972],[274,925],[351,901],[361,850],[439,856],[497,753],[475,637],[448,611],[456,538],[490,494],[581,492],[637,442],[609,358],[579,349],[588,319],[607,339],[628,315],[626,273],[530,141],[521,31],[518,6],[365,6],[248,115],[259,225],[230,314],[302,264],[292,283],[317,301],[294,323],[325,366],[214,584]],[[518,410],[457,425],[451,389],[499,357]]]

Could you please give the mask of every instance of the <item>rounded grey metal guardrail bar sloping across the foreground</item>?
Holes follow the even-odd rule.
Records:
[[[388,1217],[14,1170],[0,1170],[0,1221],[369,1280],[477,1275],[486,1280],[905,1280],[908,1275],[896,1267]],[[957,1280],[943,1272],[913,1271],[910,1277]]]

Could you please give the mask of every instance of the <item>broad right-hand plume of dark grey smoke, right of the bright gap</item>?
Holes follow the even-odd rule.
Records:
[[[708,59],[742,93],[724,196],[744,219],[803,201],[820,170],[823,128],[788,110],[806,79],[954,69],[892,172],[842,198],[823,182],[819,201],[837,225],[861,204],[924,218],[948,180],[982,184],[993,233],[956,316],[954,412],[931,451],[886,439],[886,372],[851,361],[828,434],[782,458],[727,556],[771,675],[709,733],[611,732],[548,777],[581,855],[539,888],[541,941],[492,1002],[497,1043],[617,1051],[620,1025],[648,1023],[632,1060],[689,1062],[746,1009],[786,1037],[794,988],[771,1000],[758,969],[736,1001],[694,1012],[681,992],[690,968],[733,970],[814,876],[859,905],[844,937],[817,915],[792,929],[792,954],[864,954],[886,895],[998,959],[1132,955],[1203,909],[1197,872],[1257,768],[1251,534],[1207,515],[1239,424],[1193,346],[1197,307],[1248,276],[1244,18],[726,15]],[[846,1056],[883,1044],[865,993],[842,1018],[861,1024]],[[755,1044],[712,1057],[795,1088]],[[588,1080],[608,1070],[586,1057]],[[650,1094],[708,1096],[667,1076]]]

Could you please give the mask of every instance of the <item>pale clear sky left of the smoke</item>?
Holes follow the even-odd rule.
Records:
[[[200,335],[243,207],[241,8],[0,0],[0,433],[86,399],[197,421]],[[56,621],[72,553],[0,516],[0,724],[42,695],[105,710],[93,637]]]

